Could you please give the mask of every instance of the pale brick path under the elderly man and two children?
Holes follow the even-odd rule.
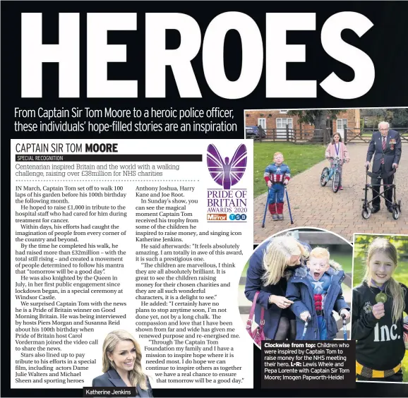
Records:
[[[320,174],[328,166],[325,160],[315,164],[289,182],[288,194],[294,224],[290,224],[285,197],[284,221],[273,222],[266,215],[265,228],[262,228],[265,211],[266,193],[254,200],[253,234],[254,243],[276,234],[283,229],[296,227],[318,227],[328,229],[352,241],[354,232],[373,234],[408,234],[408,145],[402,145],[400,167],[396,173],[397,200],[401,200],[400,218],[394,220],[381,198],[381,210],[369,219],[361,217],[362,201],[366,174],[367,144],[350,143],[347,145],[351,161],[343,166],[343,191],[332,192],[331,181],[325,187],[320,186]],[[289,164],[290,166],[290,164]],[[371,200],[371,192],[368,192]]]

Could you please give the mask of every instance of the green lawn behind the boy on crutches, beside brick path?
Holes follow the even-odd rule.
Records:
[[[253,143],[253,196],[267,191],[263,173],[268,164],[273,162],[273,154],[282,152],[284,163],[289,166],[293,176],[305,171],[325,159],[323,145],[295,145],[292,143]],[[316,177],[317,178],[317,177]]]

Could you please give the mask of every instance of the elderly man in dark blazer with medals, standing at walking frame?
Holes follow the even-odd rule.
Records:
[[[371,186],[373,186],[373,210],[372,213],[380,211],[380,196],[379,185],[383,179],[385,205],[389,212],[392,212],[392,181],[394,174],[389,175],[392,169],[398,168],[398,163],[401,157],[401,138],[400,134],[395,130],[390,130],[390,123],[380,121],[378,123],[378,131],[374,132],[370,145],[368,146],[366,167],[370,165],[371,158],[373,159],[373,174],[378,174],[378,177],[371,178]]]

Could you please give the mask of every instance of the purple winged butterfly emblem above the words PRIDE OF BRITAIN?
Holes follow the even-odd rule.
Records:
[[[229,157],[222,160],[215,145],[208,145],[207,166],[212,179],[224,189],[230,189],[244,176],[246,169],[246,146],[239,145],[229,162]]]

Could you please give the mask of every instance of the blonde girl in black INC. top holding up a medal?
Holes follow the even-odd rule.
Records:
[[[356,380],[402,382],[408,289],[392,277],[397,263],[397,249],[387,239],[368,246],[363,282],[353,289]]]

